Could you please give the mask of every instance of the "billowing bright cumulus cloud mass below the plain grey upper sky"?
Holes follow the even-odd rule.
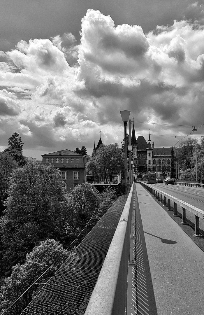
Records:
[[[123,109],[136,121],[201,125],[203,42],[198,20],[175,20],[144,34],[138,25],[115,26],[99,10],[82,18],[80,44],[70,32],[20,41],[0,52],[4,142],[16,131],[24,137],[24,149],[43,154],[91,148],[102,130],[106,143],[120,143]],[[150,133],[173,138],[174,132],[189,133],[188,127],[160,126],[158,132],[156,125],[135,125],[138,134],[149,133],[149,127]],[[171,141],[163,145],[174,145]]]

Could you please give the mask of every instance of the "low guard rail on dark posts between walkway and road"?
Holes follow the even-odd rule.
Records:
[[[201,234],[199,229],[199,219],[204,221],[204,211],[192,206],[189,203],[186,203],[178,198],[175,198],[166,192],[162,192],[160,189],[157,189],[156,187],[150,186],[147,183],[140,182],[141,185],[143,185],[154,197],[157,198],[157,200],[160,200],[160,203],[163,203],[164,206],[168,207],[168,210],[171,210],[171,201],[173,202],[173,216],[178,216],[177,214],[177,205],[182,207],[182,224],[188,224],[186,221],[186,210],[191,212],[195,215],[195,233],[194,236],[196,237],[203,237],[203,234]],[[198,185],[198,184],[197,184]]]

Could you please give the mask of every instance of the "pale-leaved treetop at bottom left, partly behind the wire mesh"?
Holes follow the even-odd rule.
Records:
[[[23,294],[54,261],[63,253],[64,249],[59,242],[49,239],[40,242],[30,254],[26,255],[25,263],[15,265],[12,268],[10,277],[5,278],[4,284],[0,289],[0,311],[5,311],[21,294]],[[67,257],[66,257],[67,258]],[[65,260],[63,255],[49,270],[38,280],[38,283],[45,283]],[[18,315],[31,299],[37,294],[42,285],[34,284],[7,314]]]

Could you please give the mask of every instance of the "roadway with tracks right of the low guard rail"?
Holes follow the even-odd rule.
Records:
[[[178,198],[204,211],[204,188],[189,186],[154,184],[151,185],[167,194]],[[180,209],[179,209],[180,208]],[[177,207],[178,212],[182,213],[181,207]],[[186,218],[195,223],[195,216],[186,211]],[[204,231],[204,221],[200,220],[200,228]]]

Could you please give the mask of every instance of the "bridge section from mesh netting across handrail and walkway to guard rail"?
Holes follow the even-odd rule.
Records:
[[[21,314],[203,315],[203,222],[162,186],[133,183]]]

